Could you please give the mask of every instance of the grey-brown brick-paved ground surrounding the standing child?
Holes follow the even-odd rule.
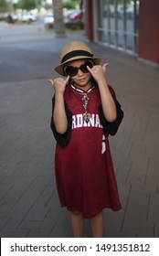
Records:
[[[40,28],[40,29],[39,29]],[[88,43],[83,31],[0,23],[0,236],[72,237],[54,178],[55,141],[49,128],[61,48]],[[159,69],[112,48],[90,44],[125,113],[110,137],[122,210],[104,210],[105,237],[159,237]],[[85,237],[90,237],[86,220]]]

